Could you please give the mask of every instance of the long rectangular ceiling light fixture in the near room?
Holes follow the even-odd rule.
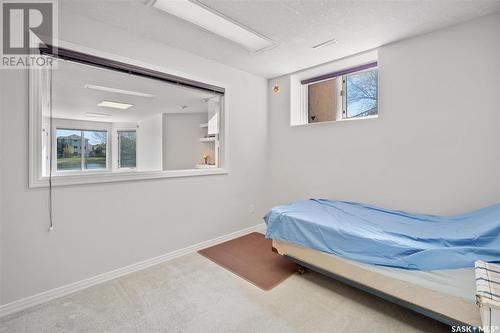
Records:
[[[276,45],[269,38],[257,34],[198,1],[156,0],[152,2],[152,5],[214,34],[236,42],[249,51],[263,51]]]

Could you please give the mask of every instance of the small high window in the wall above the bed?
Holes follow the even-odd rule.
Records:
[[[302,80],[304,124],[377,117],[376,66],[375,62]]]

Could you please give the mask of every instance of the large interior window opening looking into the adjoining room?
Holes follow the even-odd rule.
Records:
[[[224,93],[53,62],[38,82],[40,177],[222,167]]]

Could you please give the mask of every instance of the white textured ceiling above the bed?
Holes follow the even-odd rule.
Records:
[[[68,10],[202,57],[271,78],[500,11],[500,0],[200,0],[278,43],[241,46],[144,5],[143,0],[65,0]],[[319,50],[313,45],[335,38]]]

